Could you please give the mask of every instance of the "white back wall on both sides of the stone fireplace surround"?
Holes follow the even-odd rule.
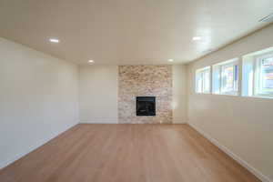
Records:
[[[186,122],[186,69],[173,66],[173,121]],[[117,66],[80,66],[79,114],[81,123],[117,123]]]

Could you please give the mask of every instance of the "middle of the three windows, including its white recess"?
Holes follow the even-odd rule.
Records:
[[[238,95],[238,59],[213,66],[213,93]]]

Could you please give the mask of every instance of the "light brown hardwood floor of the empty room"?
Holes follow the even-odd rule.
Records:
[[[259,180],[187,125],[77,125],[2,169],[0,181]]]

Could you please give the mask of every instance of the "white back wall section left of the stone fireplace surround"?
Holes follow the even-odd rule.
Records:
[[[117,66],[80,66],[81,123],[117,123]]]

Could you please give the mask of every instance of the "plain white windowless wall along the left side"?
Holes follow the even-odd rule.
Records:
[[[0,37],[0,168],[78,123],[77,66]]]

